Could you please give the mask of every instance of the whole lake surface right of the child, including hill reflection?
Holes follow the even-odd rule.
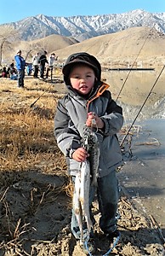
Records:
[[[124,125],[134,122],[135,130],[131,143],[128,137],[123,143],[125,165],[117,172],[119,182],[134,202],[156,219],[165,236],[165,69],[156,82],[161,71],[162,67],[157,67],[156,71],[132,71],[129,75],[128,71],[111,71],[104,75],[114,99],[128,76],[117,102],[123,109]],[[139,104],[134,104],[134,98]]]

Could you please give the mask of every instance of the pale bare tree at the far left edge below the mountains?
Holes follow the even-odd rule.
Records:
[[[0,66],[2,64],[2,58],[3,58],[3,46],[4,44],[10,44],[14,39],[19,37],[19,32],[14,29],[13,26],[1,26],[0,28]]]

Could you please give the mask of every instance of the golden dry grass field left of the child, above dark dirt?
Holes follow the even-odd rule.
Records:
[[[46,161],[59,149],[54,140],[57,99],[48,84],[30,84],[27,90],[1,85],[0,164],[2,171],[27,170]],[[30,108],[38,96],[43,97]],[[20,96],[21,94],[21,96]],[[5,96],[4,96],[5,95]]]

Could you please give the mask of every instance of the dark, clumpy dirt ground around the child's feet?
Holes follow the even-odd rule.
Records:
[[[1,255],[85,255],[71,236],[71,198],[61,189],[65,177],[38,172],[18,176],[14,173],[15,183],[5,191],[5,206],[9,207],[15,229],[13,239],[9,237],[4,200],[1,204]],[[118,207],[121,239],[111,255],[164,255],[156,226],[138,211],[127,195],[121,195]],[[104,255],[111,245],[98,226],[97,201],[93,212],[94,255]],[[9,241],[5,243],[7,238]]]

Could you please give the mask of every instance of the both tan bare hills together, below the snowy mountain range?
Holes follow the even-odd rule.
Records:
[[[14,58],[16,49],[22,49],[27,61],[36,51],[46,49],[55,52],[63,63],[71,53],[86,51],[95,55],[101,64],[108,67],[134,66],[151,67],[165,64],[165,35],[149,27],[133,27],[78,43],[74,38],[51,35],[30,42],[15,42],[12,49],[3,50],[3,59]]]

